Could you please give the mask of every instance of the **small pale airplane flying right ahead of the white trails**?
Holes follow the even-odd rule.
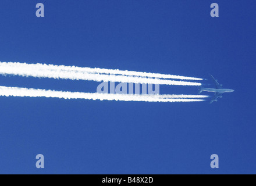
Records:
[[[212,80],[214,80],[214,83],[215,83],[215,88],[203,88],[201,87],[199,89],[199,92],[198,94],[201,94],[202,91],[205,91],[205,92],[214,92],[214,98],[212,98],[210,104],[212,102],[217,102],[218,101],[218,98],[222,98],[222,94],[223,93],[226,93],[226,92],[234,92],[234,90],[232,89],[226,89],[226,88],[222,88],[222,85],[218,83],[218,80],[215,80],[215,78],[209,74],[209,76],[211,76]]]

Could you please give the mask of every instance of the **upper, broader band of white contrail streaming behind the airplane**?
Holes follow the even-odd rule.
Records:
[[[101,74],[117,71],[115,74]],[[122,73],[118,75],[118,73]],[[141,83],[141,84],[165,84],[165,85],[193,85],[200,86],[201,83],[187,82],[187,81],[175,81],[166,80],[159,78],[166,78],[164,75],[158,74],[155,78],[152,78],[152,73],[140,73],[133,71],[120,71],[120,70],[106,70],[106,69],[90,69],[82,67],[71,67],[71,66],[56,66],[56,65],[45,65],[41,63],[27,64],[27,63],[6,63],[0,62],[0,74],[2,75],[15,75],[23,77],[38,77],[38,78],[62,78],[70,80],[91,80],[91,81],[111,81],[111,82],[122,82],[122,83]],[[129,76],[125,76],[130,74]],[[131,76],[133,74],[133,76]],[[134,74],[141,74],[147,77],[134,77]],[[151,75],[150,75],[151,74]],[[150,77],[150,78],[148,78]],[[182,77],[182,76],[181,76]],[[201,79],[200,79],[201,80]]]

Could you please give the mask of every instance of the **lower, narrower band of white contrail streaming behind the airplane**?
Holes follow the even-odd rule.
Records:
[[[152,95],[129,95],[129,94],[100,94],[84,92],[63,92],[54,90],[40,90],[32,88],[3,87],[0,86],[0,96],[20,97],[47,97],[64,99],[93,99],[108,101],[144,101],[144,102],[202,102],[204,99],[182,99],[154,97]],[[168,95],[166,95],[168,96]]]

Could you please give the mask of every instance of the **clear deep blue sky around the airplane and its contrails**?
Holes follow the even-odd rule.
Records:
[[[38,2],[44,18],[35,16]],[[212,105],[0,97],[0,173],[256,173],[254,0],[38,2],[0,2],[0,61],[211,73],[236,91]],[[213,2],[218,18],[210,16]],[[0,81],[86,92],[99,84]],[[160,91],[197,94],[197,87]],[[44,170],[35,168],[38,153]],[[209,166],[213,153],[218,170]]]

